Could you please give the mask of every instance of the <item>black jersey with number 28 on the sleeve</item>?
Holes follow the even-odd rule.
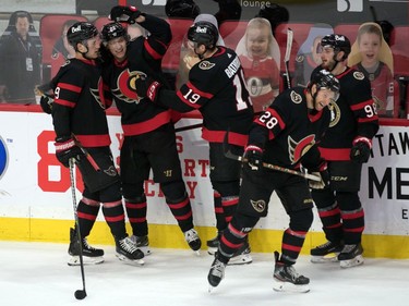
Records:
[[[326,107],[310,114],[304,90],[302,87],[285,90],[254,120],[249,144],[265,149],[264,161],[294,169],[306,152],[320,157],[316,144],[328,128],[330,112]],[[310,161],[317,163],[318,160]]]

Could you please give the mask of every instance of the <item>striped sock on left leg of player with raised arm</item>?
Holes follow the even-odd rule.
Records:
[[[135,236],[146,236],[148,228],[146,221],[147,204],[145,195],[134,199],[125,199],[125,208],[133,234]]]

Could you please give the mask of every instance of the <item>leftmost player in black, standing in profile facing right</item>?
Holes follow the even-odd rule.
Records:
[[[135,247],[125,231],[121,185],[109,148],[111,140],[105,110],[112,101],[108,95],[101,94],[98,30],[93,24],[81,22],[72,25],[67,36],[76,56],[61,66],[52,79],[56,156],[64,167],[69,167],[70,159],[74,159],[84,181],[82,199],[76,208],[80,229],[71,229],[69,254],[72,258],[69,265],[79,265],[79,243],[82,244],[85,262],[104,261],[104,250],[91,247],[86,240],[100,204],[115,237],[117,257],[142,265],[144,254]],[[83,149],[89,154],[93,163]],[[79,230],[80,242],[76,235]]]

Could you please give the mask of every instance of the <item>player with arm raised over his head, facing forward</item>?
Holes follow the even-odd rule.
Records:
[[[167,86],[160,64],[171,39],[170,26],[133,7],[112,8],[112,20],[123,16],[128,16],[128,23],[136,22],[151,33],[146,38],[140,36],[129,41],[127,29],[120,23],[109,23],[101,30],[104,46],[112,56],[104,69],[104,79],[121,112],[124,134],[120,171],[122,194],[133,230],[131,238],[145,255],[149,254],[144,182],[152,170],[185,241],[199,252],[202,243],[194,230],[192,207],[182,178],[172,113],[147,99],[140,99],[134,87],[140,74],[160,79]]]

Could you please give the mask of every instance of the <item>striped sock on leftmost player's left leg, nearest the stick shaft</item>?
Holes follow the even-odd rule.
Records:
[[[82,237],[89,235],[99,212],[99,201],[82,198],[76,207]]]

